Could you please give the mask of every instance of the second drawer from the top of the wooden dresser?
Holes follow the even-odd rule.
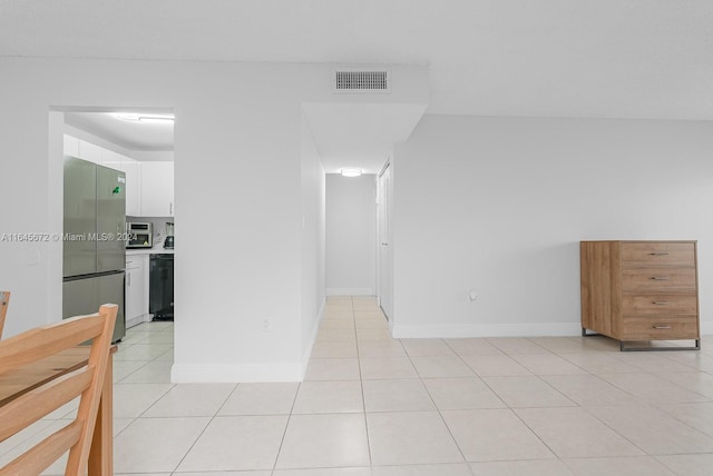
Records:
[[[622,269],[625,291],[695,291],[695,268],[627,267]]]

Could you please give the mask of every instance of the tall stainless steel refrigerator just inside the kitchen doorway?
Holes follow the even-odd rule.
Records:
[[[119,305],[113,341],[126,335],[126,176],[65,157],[62,318]]]

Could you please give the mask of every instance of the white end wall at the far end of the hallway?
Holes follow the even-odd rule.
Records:
[[[375,176],[326,175],[326,294],[374,295]]]

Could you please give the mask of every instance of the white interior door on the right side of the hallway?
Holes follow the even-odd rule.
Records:
[[[379,176],[377,219],[379,226],[379,304],[388,319],[393,317],[393,259],[391,246],[391,165]]]

